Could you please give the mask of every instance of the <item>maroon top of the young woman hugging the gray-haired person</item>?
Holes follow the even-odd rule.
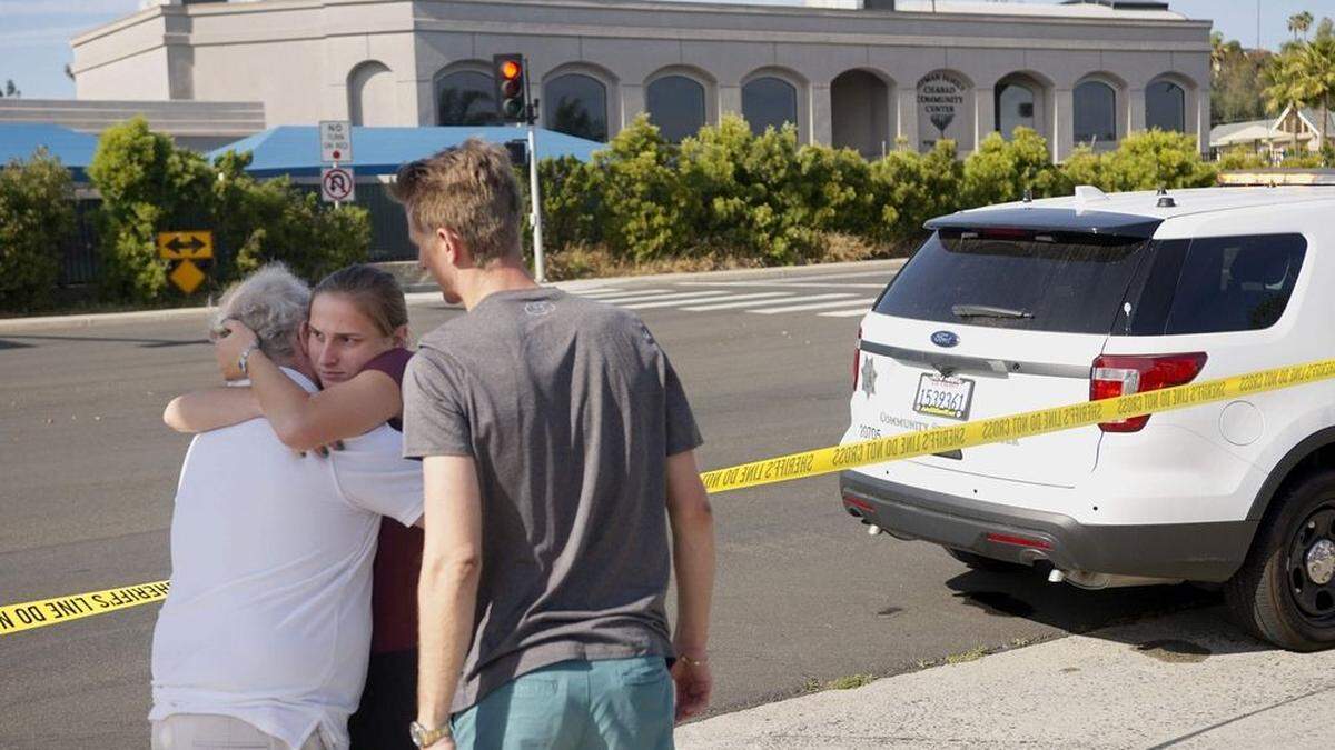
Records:
[[[362,370],[379,370],[403,388],[403,370],[413,352],[392,348]],[[390,427],[403,431],[395,416]],[[422,570],[422,546],[426,536],[417,526],[406,527],[394,519],[380,519],[379,547],[371,574],[371,653],[417,649],[417,581]]]

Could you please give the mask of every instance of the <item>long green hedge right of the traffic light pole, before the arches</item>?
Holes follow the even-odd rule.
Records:
[[[798,145],[792,125],[754,135],[737,116],[678,145],[639,116],[593,161],[542,161],[539,177],[550,252],[597,247],[646,262],[726,250],[780,264],[800,262],[828,234],[897,243],[933,216],[1027,192],[1206,187],[1218,171],[1195,136],[1161,131],[1132,133],[1116,151],[1077,148],[1063,164],[1028,128],[992,133],[963,160],[943,140],[926,153],[901,143],[868,161],[848,148]]]

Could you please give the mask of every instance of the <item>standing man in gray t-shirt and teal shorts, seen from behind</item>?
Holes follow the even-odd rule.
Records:
[[[670,747],[673,682],[677,718],[709,699],[714,569],[677,374],[635,315],[533,283],[498,148],[410,164],[395,191],[422,266],[469,311],[403,382],[426,483],[414,738]]]

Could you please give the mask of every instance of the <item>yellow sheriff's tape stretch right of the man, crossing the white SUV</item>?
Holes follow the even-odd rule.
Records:
[[[963,422],[932,430],[902,432],[889,438],[789,454],[741,466],[716,468],[701,474],[700,478],[705,482],[705,490],[709,494],[729,492],[745,487],[820,476],[858,466],[904,460],[920,455],[1087,427],[1100,422],[1117,422],[1129,416],[1188,408],[1331,378],[1335,378],[1335,359],[1326,359],[1159,391]]]

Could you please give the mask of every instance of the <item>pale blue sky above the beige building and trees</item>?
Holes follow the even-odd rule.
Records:
[[[1246,47],[1258,44],[1260,8],[1260,45],[1271,49],[1290,37],[1288,16],[1311,11],[1318,19],[1335,17],[1335,0],[1169,0],[1168,4],[1188,17],[1214,20],[1218,31]],[[64,73],[72,59],[69,37],[138,8],[139,0],[0,0],[0,85],[13,80],[25,99],[73,99],[73,81]]]

